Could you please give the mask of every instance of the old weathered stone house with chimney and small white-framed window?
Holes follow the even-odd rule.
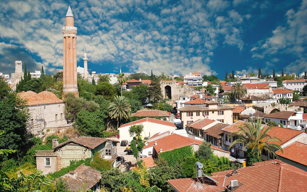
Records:
[[[44,174],[52,173],[67,167],[71,160],[87,159],[96,152],[103,159],[116,162],[116,143],[111,139],[82,136],[59,144],[58,139],[52,139],[52,150],[35,151],[37,169]]]

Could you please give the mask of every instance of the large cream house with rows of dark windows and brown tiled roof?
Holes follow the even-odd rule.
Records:
[[[232,123],[233,107],[209,100],[204,104],[188,105],[179,109],[181,126],[199,119],[218,120],[222,123]]]

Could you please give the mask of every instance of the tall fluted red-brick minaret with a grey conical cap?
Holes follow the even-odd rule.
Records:
[[[77,81],[77,28],[74,26],[74,15],[70,6],[65,17],[66,26],[63,27],[63,94],[73,92],[79,96]]]

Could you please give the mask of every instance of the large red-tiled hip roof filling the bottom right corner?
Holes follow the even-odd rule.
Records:
[[[234,192],[266,191],[293,192],[306,191],[307,172],[279,160],[254,163],[254,166],[236,170],[236,174],[227,177],[228,171],[212,173],[223,180],[223,187],[228,190],[231,180],[238,180],[240,185]]]

